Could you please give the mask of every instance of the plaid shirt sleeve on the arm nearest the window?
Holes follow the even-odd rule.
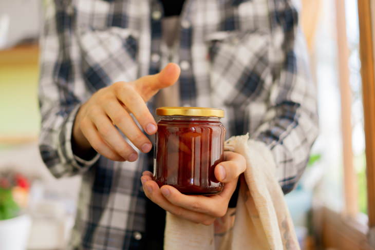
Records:
[[[289,193],[303,174],[317,137],[316,90],[296,9],[291,1],[269,3],[273,84],[265,118],[251,139],[271,150],[278,181]]]

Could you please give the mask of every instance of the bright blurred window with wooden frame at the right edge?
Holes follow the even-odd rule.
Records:
[[[326,10],[331,11],[322,14],[323,19],[327,18],[331,22],[327,20],[323,22],[331,25],[330,31],[336,35],[336,45],[328,39],[330,43],[323,43],[316,49],[316,60],[319,62],[322,59],[319,54],[323,53],[323,62],[328,65],[316,64],[317,82],[320,84],[318,86],[320,109],[323,109],[322,136],[326,136],[322,140],[323,143],[318,141],[317,147],[321,146],[323,152],[326,155],[328,153],[328,158],[333,159],[333,166],[327,165],[329,178],[324,196],[328,202],[318,208],[316,214],[322,217],[321,237],[325,247],[374,249],[375,2],[369,0],[324,2]],[[332,13],[335,13],[333,18]],[[324,33],[324,29],[327,30],[329,27],[324,27],[321,31],[323,32],[323,35],[319,36],[321,40],[327,38],[324,35],[333,35],[329,32]],[[337,51],[337,54],[334,55],[332,51]],[[333,58],[337,61],[336,81],[339,82],[336,86],[338,88],[336,94],[332,84],[322,86],[324,81],[320,82],[322,75],[326,83],[330,78],[335,80],[334,70],[329,69],[334,67],[332,66],[334,63],[330,61]],[[337,119],[338,112],[334,112],[335,110],[341,110],[339,119]],[[329,113],[332,114],[331,117]],[[338,123],[340,127],[337,126]],[[340,128],[341,131],[335,131],[335,128]],[[340,140],[335,140],[338,136]],[[333,147],[331,143],[334,144]],[[342,151],[337,150],[337,147]],[[327,151],[327,148],[331,151]]]

